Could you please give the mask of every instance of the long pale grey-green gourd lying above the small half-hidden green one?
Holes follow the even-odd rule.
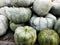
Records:
[[[31,10],[24,7],[3,7],[0,14],[5,15],[13,23],[25,23],[31,18]]]

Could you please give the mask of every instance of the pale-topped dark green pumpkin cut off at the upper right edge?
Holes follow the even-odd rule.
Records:
[[[53,2],[53,6],[50,10],[50,13],[54,14],[55,16],[59,16],[60,15],[60,3]]]

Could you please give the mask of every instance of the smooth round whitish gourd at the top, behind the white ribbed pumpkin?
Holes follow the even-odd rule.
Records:
[[[38,16],[45,16],[52,8],[51,0],[35,0],[33,10]]]

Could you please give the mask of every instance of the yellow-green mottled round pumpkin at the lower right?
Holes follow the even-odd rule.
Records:
[[[40,45],[58,45],[59,35],[51,29],[42,30],[38,34],[38,42]]]

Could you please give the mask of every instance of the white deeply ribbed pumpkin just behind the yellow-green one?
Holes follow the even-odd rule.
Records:
[[[52,14],[48,14],[46,17],[33,16],[30,20],[30,25],[37,31],[42,29],[52,29],[56,23],[56,17]]]

